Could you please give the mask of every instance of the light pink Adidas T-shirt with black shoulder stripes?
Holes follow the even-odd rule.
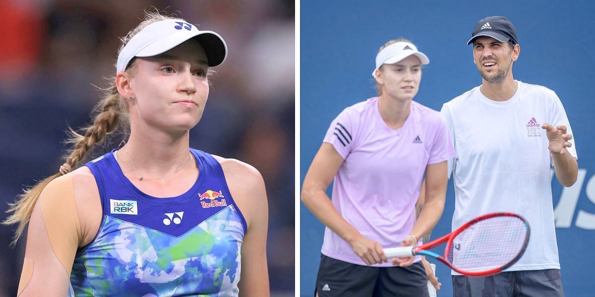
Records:
[[[380,115],[379,99],[372,97],[346,108],[328,128],[324,142],[332,144],[344,159],[334,178],[331,201],[365,238],[384,248],[399,247],[413,229],[426,166],[454,157],[455,149],[436,110],[412,101],[403,127],[392,129]],[[350,245],[328,228],[321,252],[365,265]],[[372,266],[392,265],[389,261]]]

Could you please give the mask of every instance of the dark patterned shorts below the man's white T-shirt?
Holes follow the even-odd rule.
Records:
[[[453,296],[563,297],[559,269],[505,271],[495,276],[452,276]]]

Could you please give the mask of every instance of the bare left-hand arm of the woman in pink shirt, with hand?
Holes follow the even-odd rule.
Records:
[[[343,157],[329,143],[323,143],[306,173],[302,186],[302,202],[328,228],[345,239],[368,265],[387,261],[378,242],[369,240],[353,228],[334,208],[326,194],[328,185],[333,181]]]

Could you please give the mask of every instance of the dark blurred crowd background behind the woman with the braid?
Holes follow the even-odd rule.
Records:
[[[211,78],[195,149],[255,166],[267,184],[273,296],[295,290],[295,2],[280,0],[0,0],[0,213],[26,185],[58,171],[65,129],[90,122],[115,75],[125,36],[143,11],[212,30],[228,57]],[[104,153],[104,152],[101,152]],[[0,227],[0,295],[16,296],[22,238]]]

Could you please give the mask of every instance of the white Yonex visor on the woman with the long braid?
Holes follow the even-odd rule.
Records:
[[[115,73],[124,71],[135,56],[156,56],[193,37],[196,37],[205,49],[209,67],[225,61],[227,45],[219,34],[213,31],[199,31],[196,26],[184,20],[164,20],[146,26],[129,40],[118,55]]]

